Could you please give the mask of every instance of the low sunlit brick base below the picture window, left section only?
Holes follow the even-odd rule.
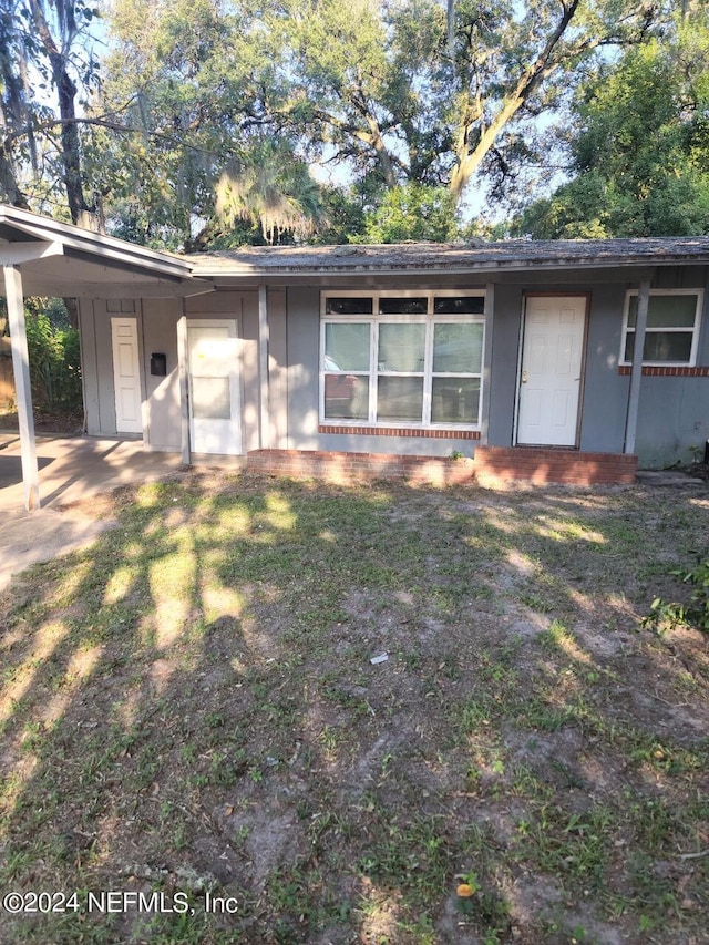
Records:
[[[247,473],[318,479],[347,485],[376,479],[398,479],[411,485],[458,485],[473,481],[473,461],[444,456],[400,456],[390,453],[341,453],[322,450],[254,450]]]

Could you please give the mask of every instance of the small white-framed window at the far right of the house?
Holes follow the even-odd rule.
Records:
[[[697,361],[702,291],[700,289],[653,289],[647,310],[643,348],[644,364],[681,364]],[[633,363],[638,294],[626,296],[621,363]]]

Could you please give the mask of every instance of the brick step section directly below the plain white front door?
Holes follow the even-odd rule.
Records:
[[[621,453],[582,453],[527,446],[477,446],[475,479],[483,486],[525,480],[572,485],[635,482],[638,458]]]

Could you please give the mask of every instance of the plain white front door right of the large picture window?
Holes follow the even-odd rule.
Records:
[[[518,444],[576,445],[585,325],[585,297],[527,298]]]

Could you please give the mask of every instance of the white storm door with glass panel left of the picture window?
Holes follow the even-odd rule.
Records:
[[[189,433],[194,453],[242,452],[236,321],[187,322]]]

